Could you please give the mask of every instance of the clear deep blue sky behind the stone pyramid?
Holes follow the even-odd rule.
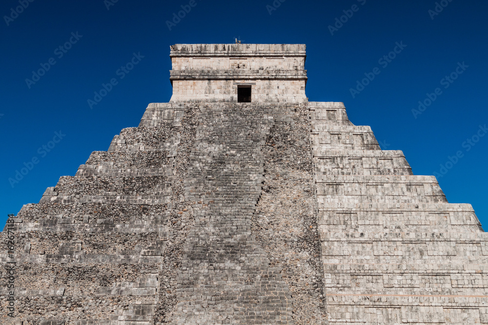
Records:
[[[439,182],[449,202],[471,203],[488,229],[488,134],[463,146],[488,124],[487,1],[443,0],[447,6],[434,15],[434,0],[286,0],[275,1],[277,8],[266,7],[272,0],[196,0],[171,31],[166,20],[189,0],[119,0],[107,9],[108,1],[34,0],[18,15],[11,8],[19,0],[1,1],[2,225],[61,175],[74,175],[92,151],[107,150],[122,128],[137,126],[148,103],[169,101],[170,45],[240,38],[305,43],[309,100],[345,102],[350,120],[370,125],[383,149],[403,150],[415,174],[441,172],[461,152]],[[352,17],[342,17],[331,35],[328,26],[346,14]],[[406,47],[379,61],[396,42]],[[134,53],[140,62],[117,73]],[[28,85],[50,58],[55,64]],[[456,79],[448,81],[451,73]],[[374,80],[353,98],[365,74]],[[90,109],[87,100],[112,78],[117,85]],[[440,95],[414,118],[412,109],[436,88]],[[33,158],[37,164],[12,188],[9,178]]]

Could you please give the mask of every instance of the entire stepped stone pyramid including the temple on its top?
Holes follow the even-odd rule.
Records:
[[[8,220],[1,324],[488,324],[473,209],[309,102],[305,45],[171,59],[169,103]]]

